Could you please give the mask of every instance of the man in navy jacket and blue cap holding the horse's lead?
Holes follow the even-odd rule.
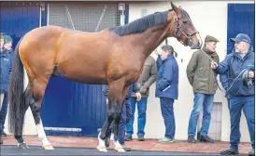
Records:
[[[239,123],[241,110],[244,110],[252,146],[249,155],[255,155],[254,52],[249,45],[250,38],[247,34],[239,33],[235,38],[231,38],[230,41],[235,42],[235,52],[228,55],[219,65],[211,62],[211,67],[215,72],[229,75],[227,92],[230,96],[230,149],[220,151],[220,154],[231,155],[239,153]]]

